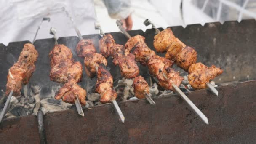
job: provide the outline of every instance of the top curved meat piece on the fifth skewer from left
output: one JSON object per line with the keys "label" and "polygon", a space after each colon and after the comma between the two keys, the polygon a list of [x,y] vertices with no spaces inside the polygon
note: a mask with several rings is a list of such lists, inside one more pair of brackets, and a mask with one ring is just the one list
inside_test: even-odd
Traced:
{"label": "top curved meat piece on the fifth skewer from left", "polygon": [[134,37],[131,37],[126,43],[125,43],[125,48],[127,49],[127,51],[125,50],[125,55],[128,55],[131,51],[131,49],[134,47],[134,45],[136,45],[136,43],[138,42],[143,42],[145,43],[145,37],[141,36],[141,35],[136,35]]}

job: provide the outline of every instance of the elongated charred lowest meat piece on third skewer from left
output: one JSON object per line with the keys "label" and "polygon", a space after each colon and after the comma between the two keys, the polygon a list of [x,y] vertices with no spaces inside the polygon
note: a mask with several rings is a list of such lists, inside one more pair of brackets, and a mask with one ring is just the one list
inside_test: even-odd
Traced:
{"label": "elongated charred lowest meat piece on third skewer from left", "polygon": [[109,70],[100,64],[98,68],[98,79],[95,85],[96,92],[101,96],[101,103],[110,102],[117,97],[117,93],[113,90],[113,77]]}

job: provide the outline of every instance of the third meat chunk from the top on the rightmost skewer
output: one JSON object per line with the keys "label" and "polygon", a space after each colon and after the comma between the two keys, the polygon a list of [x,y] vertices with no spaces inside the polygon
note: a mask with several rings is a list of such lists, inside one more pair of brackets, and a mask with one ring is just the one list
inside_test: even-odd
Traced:
{"label": "third meat chunk from the top on the rightmost skewer", "polygon": [[195,64],[197,61],[197,52],[192,47],[185,47],[180,53],[176,56],[176,64],[184,69],[188,70],[191,64]]}

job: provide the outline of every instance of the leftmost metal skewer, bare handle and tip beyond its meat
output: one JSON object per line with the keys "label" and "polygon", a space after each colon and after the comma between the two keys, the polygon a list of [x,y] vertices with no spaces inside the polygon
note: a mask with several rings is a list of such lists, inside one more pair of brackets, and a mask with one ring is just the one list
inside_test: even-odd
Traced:
{"label": "leftmost metal skewer, bare handle and tip beyond its meat", "polygon": [[[36,37],[37,37],[37,33],[38,33],[39,29],[40,29],[40,26],[41,26],[41,24],[43,23],[43,21],[45,21],[45,20],[50,21],[50,18],[43,18],[43,19],[42,19],[42,21],[40,22],[40,24],[39,24],[38,27],[37,27],[37,31],[36,31],[36,33],[35,33],[35,36],[34,36],[34,39],[33,39],[32,44],[35,43],[35,39],[36,39]],[[28,84],[27,84],[27,85],[24,85],[24,89],[28,90]],[[5,106],[4,106],[4,108],[3,108],[3,111],[1,112],[1,115],[0,115],[0,123],[2,122],[3,117],[5,116],[5,113],[6,113],[7,109],[8,109],[8,106],[9,106],[9,104],[10,104],[12,95],[13,95],[13,90],[11,90],[11,92],[9,93],[9,96],[8,96],[8,98],[7,98],[7,101],[5,102]]]}

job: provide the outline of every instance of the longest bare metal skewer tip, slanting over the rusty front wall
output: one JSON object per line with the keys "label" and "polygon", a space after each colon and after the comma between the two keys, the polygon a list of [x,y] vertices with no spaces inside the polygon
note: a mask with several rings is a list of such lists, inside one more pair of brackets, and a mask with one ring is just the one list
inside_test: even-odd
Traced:
{"label": "longest bare metal skewer tip, slanting over the rusty front wall", "polygon": [[195,104],[193,104],[193,102],[174,83],[172,83],[172,86],[175,92],[178,93],[179,96],[181,96],[181,98],[189,104],[194,112],[208,125],[208,118],[203,114],[203,112],[201,112],[200,109],[198,109],[197,106],[195,106]]}

